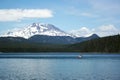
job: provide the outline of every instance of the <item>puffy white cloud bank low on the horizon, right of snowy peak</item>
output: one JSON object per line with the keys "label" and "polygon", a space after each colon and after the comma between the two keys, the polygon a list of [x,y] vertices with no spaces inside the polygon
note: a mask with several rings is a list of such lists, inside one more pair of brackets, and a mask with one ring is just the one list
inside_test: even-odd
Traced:
{"label": "puffy white cloud bank low on the horizon, right of snowy peak", "polygon": [[76,35],[77,37],[88,37],[92,34],[97,34],[100,37],[110,36],[120,34],[120,30],[117,29],[114,25],[102,25],[97,28],[89,29],[87,27],[81,27],[78,30],[70,31],[71,34]]}

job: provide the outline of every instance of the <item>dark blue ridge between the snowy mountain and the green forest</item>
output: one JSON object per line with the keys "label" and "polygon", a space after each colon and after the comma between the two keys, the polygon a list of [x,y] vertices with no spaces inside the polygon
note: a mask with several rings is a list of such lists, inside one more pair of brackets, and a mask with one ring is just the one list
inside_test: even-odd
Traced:
{"label": "dark blue ridge between the snowy mountain and the green forest", "polygon": [[34,35],[28,39],[23,37],[0,37],[2,41],[17,41],[17,42],[32,42],[32,43],[43,43],[43,44],[74,44],[79,43],[95,38],[99,38],[98,36],[94,37],[95,34],[90,37],[79,37],[73,38],[70,36],[47,36],[47,35]]}

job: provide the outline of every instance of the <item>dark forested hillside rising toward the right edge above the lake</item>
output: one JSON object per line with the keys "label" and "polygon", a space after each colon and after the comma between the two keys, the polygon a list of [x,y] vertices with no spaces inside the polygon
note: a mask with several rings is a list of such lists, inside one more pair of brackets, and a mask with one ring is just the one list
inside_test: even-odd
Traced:
{"label": "dark forested hillside rising toward the right edge above the lake", "polygon": [[69,49],[77,52],[117,52],[120,53],[120,35],[93,39],[73,45]]}

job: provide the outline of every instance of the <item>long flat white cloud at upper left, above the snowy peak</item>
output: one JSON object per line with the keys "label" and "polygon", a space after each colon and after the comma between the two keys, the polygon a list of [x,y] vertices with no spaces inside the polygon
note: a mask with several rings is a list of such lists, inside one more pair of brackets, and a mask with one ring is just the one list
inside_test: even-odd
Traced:
{"label": "long flat white cloud at upper left, above the snowy peak", "polygon": [[0,9],[0,21],[19,21],[23,18],[50,18],[49,9]]}

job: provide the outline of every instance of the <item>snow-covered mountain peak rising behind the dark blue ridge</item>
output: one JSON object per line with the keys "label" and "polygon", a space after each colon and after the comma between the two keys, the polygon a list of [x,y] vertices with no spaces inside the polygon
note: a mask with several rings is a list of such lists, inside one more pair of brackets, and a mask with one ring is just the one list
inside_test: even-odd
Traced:
{"label": "snow-covered mountain peak rising behind the dark blue ridge", "polygon": [[30,38],[34,35],[47,35],[47,36],[72,36],[52,24],[33,23],[27,27],[11,30],[1,35],[2,37],[23,37]]}

